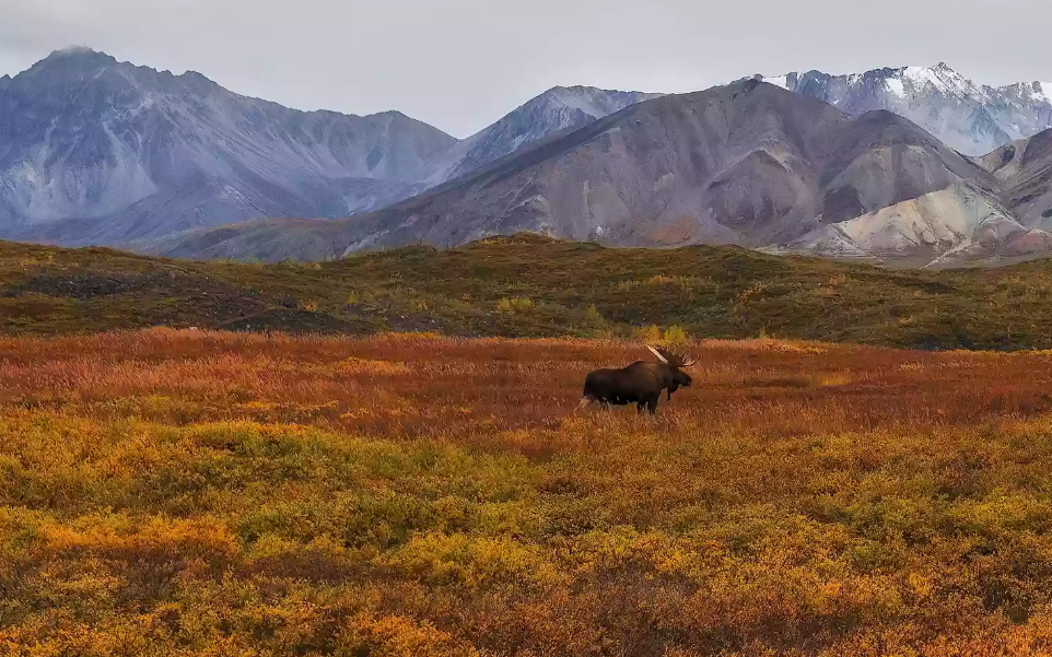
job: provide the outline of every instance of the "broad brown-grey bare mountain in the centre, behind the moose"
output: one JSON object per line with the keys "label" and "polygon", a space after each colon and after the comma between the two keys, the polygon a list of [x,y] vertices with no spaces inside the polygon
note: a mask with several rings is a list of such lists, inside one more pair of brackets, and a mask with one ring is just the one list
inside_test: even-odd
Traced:
{"label": "broad brown-grey bare mountain in the centre, behind the moose", "polygon": [[[378,212],[139,246],[171,256],[327,259],[528,230],[611,245],[761,248],[797,245],[945,190],[963,190],[965,200],[944,204],[1000,208],[1000,186],[991,172],[890,112],[852,116],[749,80],[630,106]],[[931,208],[921,212],[940,221]],[[971,237],[958,227],[900,244],[893,255],[931,261]],[[878,255],[856,247],[849,255]]]}

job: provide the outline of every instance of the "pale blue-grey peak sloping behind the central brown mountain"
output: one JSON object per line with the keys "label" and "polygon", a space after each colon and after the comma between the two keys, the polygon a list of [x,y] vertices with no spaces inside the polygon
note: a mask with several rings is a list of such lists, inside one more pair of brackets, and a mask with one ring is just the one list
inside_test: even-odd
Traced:
{"label": "pale blue-grey peak sloping behind the central brown mountain", "polygon": [[454,146],[433,165],[424,179],[425,186],[440,185],[481,169],[523,146],[583,128],[596,119],[659,95],[593,86],[557,86]]}

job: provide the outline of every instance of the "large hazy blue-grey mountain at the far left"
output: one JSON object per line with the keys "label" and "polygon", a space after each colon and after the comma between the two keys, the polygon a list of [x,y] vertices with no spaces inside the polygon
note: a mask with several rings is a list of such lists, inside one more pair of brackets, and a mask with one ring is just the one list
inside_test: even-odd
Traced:
{"label": "large hazy blue-grey mountain at the far left", "polygon": [[0,235],[113,244],[404,198],[456,140],[398,113],[297,112],[90,49],[0,81]]}

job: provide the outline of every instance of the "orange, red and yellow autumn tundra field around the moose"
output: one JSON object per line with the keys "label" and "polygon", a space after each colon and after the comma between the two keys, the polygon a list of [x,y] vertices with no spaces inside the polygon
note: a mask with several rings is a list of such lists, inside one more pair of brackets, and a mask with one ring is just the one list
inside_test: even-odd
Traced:
{"label": "orange, red and yellow autumn tundra field around the moose", "polygon": [[1052,654],[1052,354],[0,338],[0,655]]}

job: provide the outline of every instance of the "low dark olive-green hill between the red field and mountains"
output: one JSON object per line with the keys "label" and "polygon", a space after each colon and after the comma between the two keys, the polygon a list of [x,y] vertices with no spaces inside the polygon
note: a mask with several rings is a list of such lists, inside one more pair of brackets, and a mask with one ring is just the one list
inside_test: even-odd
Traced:
{"label": "low dark olive-green hill between the red field and mountains", "polygon": [[0,243],[0,330],[150,326],[459,336],[759,335],[1052,348],[1052,261],[890,271],[738,248],[610,249],[537,235],[324,263],[191,262]]}

